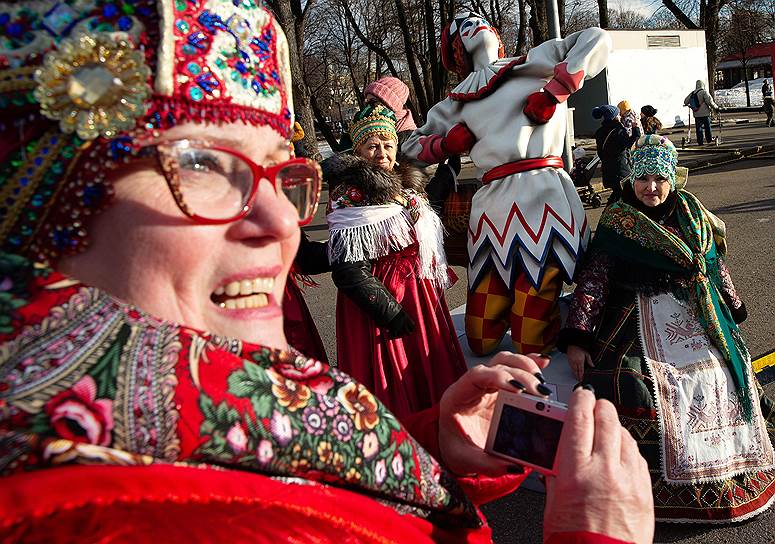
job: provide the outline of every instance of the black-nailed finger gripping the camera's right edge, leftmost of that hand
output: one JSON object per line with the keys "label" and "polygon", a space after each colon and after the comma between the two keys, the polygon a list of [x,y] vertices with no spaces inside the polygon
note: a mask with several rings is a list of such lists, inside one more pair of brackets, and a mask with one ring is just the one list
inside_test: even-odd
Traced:
{"label": "black-nailed finger gripping the camera's right edge, leftmost of that hand", "polygon": [[585,464],[592,454],[595,440],[595,395],[577,389],[570,397],[568,413],[558,446],[558,470],[574,470]]}

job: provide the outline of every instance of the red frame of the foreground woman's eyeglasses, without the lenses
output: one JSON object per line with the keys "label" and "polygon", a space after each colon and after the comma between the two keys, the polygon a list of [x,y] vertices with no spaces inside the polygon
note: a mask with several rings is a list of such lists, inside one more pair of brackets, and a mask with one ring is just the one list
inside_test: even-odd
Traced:
{"label": "red frame of the foreground woman's eyeglasses, without the lenses", "polygon": [[[173,146],[181,143],[193,144],[191,147],[201,147],[203,149],[212,149],[214,151],[221,151],[223,153],[228,153],[229,155],[233,155],[237,157],[246,165],[248,165],[251,173],[253,174],[253,187],[250,190],[250,194],[248,195],[247,201],[243,206],[242,211],[226,219],[210,219],[209,217],[202,217],[201,215],[197,215],[189,209],[188,205],[186,205],[185,199],[183,198],[183,194],[180,191],[180,180],[176,175],[176,169],[173,168],[171,164],[166,163],[166,161],[171,162],[172,157],[170,156],[170,154],[163,152],[163,149],[165,146]],[[229,147],[220,146],[220,145],[212,145],[206,142],[197,142],[195,140],[174,140],[171,142],[161,142],[161,143],[153,144],[146,147],[151,147],[155,149],[156,158],[159,162],[159,167],[161,168],[161,171],[164,174],[164,179],[166,180],[167,186],[169,187],[170,192],[172,193],[172,197],[175,199],[175,204],[177,204],[180,211],[183,212],[183,214],[185,214],[186,217],[192,219],[195,223],[198,223],[201,225],[225,225],[226,223],[233,223],[235,221],[239,221],[240,219],[247,216],[250,213],[250,211],[253,209],[253,201],[256,198],[256,193],[258,192],[258,184],[261,183],[261,180],[266,179],[272,186],[272,189],[274,189],[275,194],[278,194],[277,178],[276,178],[277,173],[283,168],[286,168],[288,166],[292,166],[295,164],[306,164],[307,166],[311,166],[312,169],[317,174],[314,180],[314,183],[317,185],[317,187],[313,188],[313,190],[315,191],[315,202],[312,206],[312,210],[310,211],[309,216],[305,219],[298,220],[299,226],[303,227],[305,225],[310,224],[312,222],[312,219],[315,217],[315,212],[317,212],[318,204],[320,203],[320,191],[323,186],[323,183],[322,183],[323,172],[320,169],[320,165],[316,161],[313,161],[312,159],[297,157],[294,159],[289,159],[287,161],[281,162],[279,164],[264,167],[264,166],[261,166],[260,164],[256,164],[247,155],[240,153],[236,149],[231,149]],[[280,190],[282,191],[282,189]]]}

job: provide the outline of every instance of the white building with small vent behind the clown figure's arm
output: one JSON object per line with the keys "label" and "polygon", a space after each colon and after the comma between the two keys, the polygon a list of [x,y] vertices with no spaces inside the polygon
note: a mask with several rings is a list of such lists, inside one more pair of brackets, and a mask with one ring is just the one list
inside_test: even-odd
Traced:
{"label": "white building with small vent behind the clown figure's arm", "polygon": [[651,104],[666,127],[684,126],[684,98],[698,79],[708,82],[703,30],[610,30],[613,50],[608,67],[573,94],[576,135],[592,135],[600,121],[592,108],[627,100],[640,113]]}

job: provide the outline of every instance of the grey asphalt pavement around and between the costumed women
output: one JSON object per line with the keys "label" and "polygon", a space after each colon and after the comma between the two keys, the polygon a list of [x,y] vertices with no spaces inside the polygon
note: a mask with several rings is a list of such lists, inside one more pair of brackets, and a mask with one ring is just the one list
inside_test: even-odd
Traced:
{"label": "grey asphalt pavement around and between the costumed women", "polygon": [[[751,118],[736,124],[733,118]],[[753,356],[775,348],[775,128],[763,126],[763,117],[734,114],[723,127],[724,144],[718,149],[681,151],[679,164],[690,167],[687,189],[726,222],[727,263],[736,287],[746,302],[749,317],[742,330]],[[676,132],[674,134],[680,134]],[[680,146],[680,136],[676,138]],[[726,146],[726,147],[725,147]],[[715,146],[714,146],[715,147]],[[769,152],[768,152],[769,150]],[[739,153],[736,154],[736,153]],[[752,156],[735,160],[743,154]],[[733,161],[733,162],[730,162]],[[707,163],[723,163],[707,167]],[[315,240],[325,240],[324,193],[321,209],[305,230]],[[588,210],[594,228],[602,210]],[[465,269],[455,267],[461,278],[446,293],[450,308],[465,302]],[[329,275],[315,278],[319,286],[308,288],[307,303],[331,360],[336,360],[336,288]],[[767,387],[775,395],[775,384]],[[622,475],[622,477],[627,477]],[[541,493],[520,489],[485,505],[496,543],[540,543],[543,523]],[[752,520],[727,526],[659,524],[656,542],[670,543],[775,543],[775,508]]]}

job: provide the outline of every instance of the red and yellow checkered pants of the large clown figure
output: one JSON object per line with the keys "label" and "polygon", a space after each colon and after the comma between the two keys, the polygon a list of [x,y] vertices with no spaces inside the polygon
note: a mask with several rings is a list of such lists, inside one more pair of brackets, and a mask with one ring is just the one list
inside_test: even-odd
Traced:
{"label": "red and yellow checkered pants of the large clown figure", "polygon": [[466,336],[471,351],[477,355],[494,351],[509,327],[517,353],[551,351],[560,330],[561,289],[562,275],[554,263],[546,265],[538,289],[524,271],[511,289],[497,272],[487,272],[468,292]]}

